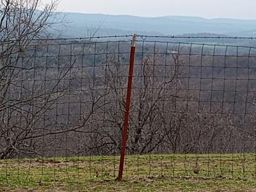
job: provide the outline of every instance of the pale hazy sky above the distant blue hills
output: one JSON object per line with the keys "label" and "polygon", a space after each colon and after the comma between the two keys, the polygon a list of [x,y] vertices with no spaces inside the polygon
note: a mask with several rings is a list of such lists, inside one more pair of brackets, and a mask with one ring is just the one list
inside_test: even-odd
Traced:
{"label": "pale hazy sky above the distant blue hills", "polygon": [[[42,0],[50,2],[51,0]],[[60,0],[59,11],[156,17],[256,19],[256,0]]]}

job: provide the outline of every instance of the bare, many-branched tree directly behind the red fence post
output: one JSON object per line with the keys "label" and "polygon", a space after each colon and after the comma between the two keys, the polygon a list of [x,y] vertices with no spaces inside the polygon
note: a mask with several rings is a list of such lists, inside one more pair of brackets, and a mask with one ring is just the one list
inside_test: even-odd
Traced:
{"label": "bare, many-branched tree directly behind the red fence post", "polygon": [[[167,114],[166,109],[170,106],[165,106],[165,104],[167,101],[171,105],[176,102],[177,96],[172,91],[175,90],[176,83],[179,83],[178,68],[182,61],[179,61],[178,55],[170,54],[167,66],[164,67],[161,65],[163,60],[165,58],[161,55],[143,56],[142,64],[134,69],[128,145],[128,152],[131,154],[159,152],[160,146],[168,136],[175,134],[178,137],[180,134],[176,130],[178,129],[178,127],[176,128],[177,124],[169,122],[169,119],[173,116],[182,121],[181,119],[185,116],[178,116],[171,112]],[[109,55],[107,65],[102,68],[102,76],[105,76],[104,79],[107,79],[107,82],[102,82],[102,84],[107,86],[107,99],[114,102],[109,102],[102,108],[104,110],[102,114],[105,114],[105,124],[97,129],[104,131],[106,127],[111,127],[111,131],[104,131],[104,134],[95,140],[97,143],[95,148],[98,150],[104,148],[103,151],[106,154],[116,152],[120,148],[125,111],[126,73],[125,61],[115,54]],[[156,74],[165,74],[166,77],[158,78]]]}

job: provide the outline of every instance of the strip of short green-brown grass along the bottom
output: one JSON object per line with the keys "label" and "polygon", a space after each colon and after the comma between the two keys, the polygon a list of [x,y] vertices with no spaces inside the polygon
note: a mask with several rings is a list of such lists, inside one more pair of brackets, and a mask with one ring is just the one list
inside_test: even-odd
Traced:
{"label": "strip of short green-brown grass along the bottom", "polygon": [[0,161],[0,191],[256,191],[255,154],[118,156]]}

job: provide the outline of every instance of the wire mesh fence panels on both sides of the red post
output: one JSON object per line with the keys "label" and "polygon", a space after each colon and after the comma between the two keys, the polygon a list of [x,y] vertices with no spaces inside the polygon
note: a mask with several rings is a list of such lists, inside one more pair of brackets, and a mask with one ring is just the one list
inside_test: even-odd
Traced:
{"label": "wire mesh fence panels on both sides of the red post", "polygon": [[[255,179],[254,39],[196,38],[138,37],[124,179]],[[130,47],[1,42],[1,183],[116,179]]]}

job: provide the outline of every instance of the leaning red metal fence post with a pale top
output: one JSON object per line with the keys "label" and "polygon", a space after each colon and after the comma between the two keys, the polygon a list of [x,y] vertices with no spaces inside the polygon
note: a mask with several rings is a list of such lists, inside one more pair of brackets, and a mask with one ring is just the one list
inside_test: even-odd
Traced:
{"label": "leaning red metal fence post with a pale top", "polygon": [[129,64],[129,77],[128,77],[128,85],[127,85],[127,94],[126,94],[126,104],[125,104],[125,118],[123,122],[123,138],[122,138],[122,146],[121,146],[121,154],[120,154],[120,163],[119,163],[119,172],[117,180],[122,180],[123,177],[123,164],[125,159],[125,149],[128,138],[128,125],[129,125],[129,111],[130,111],[130,103],[131,103],[131,93],[133,88],[133,68],[134,68],[134,58],[135,58],[135,45],[136,45],[137,35],[133,35],[133,41],[131,45],[130,52],[130,64]]}

